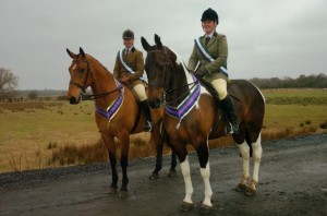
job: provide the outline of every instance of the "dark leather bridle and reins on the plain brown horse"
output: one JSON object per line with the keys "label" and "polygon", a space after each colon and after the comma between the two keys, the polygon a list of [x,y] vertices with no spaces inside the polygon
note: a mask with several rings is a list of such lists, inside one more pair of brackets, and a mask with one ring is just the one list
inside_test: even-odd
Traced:
{"label": "dark leather bridle and reins on the plain brown horse", "polygon": [[[76,82],[74,82],[72,80],[70,81],[70,84],[71,85],[75,85],[75,86],[77,86],[78,88],[82,89],[81,100],[94,100],[94,99],[101,98],[101,97],[105,97],[107,95],[110,95],[110,94],[112,94],[112,93],[114,93],[117,91],[119,91],[119,92],[122,91],[123,85],[120,82],[118,82],[119,83],[118,87],[116,87],[112,91],[109,91],[109,92],[106,92],[106,93],[100,93],[100,94],[87,95],[86,94],[86,88],[87,88],[86,82],[87,82],[88,76],[92,75],[90,67],[89,67],[89,61],[88,60],[80,60],[80,61],[87,63],[86,75],[85,75],[83,85],[81,85],[81,84],[78,84],[78,83],[76,83]],[[77,62],[77,60],[73,60],[73,62]]]}

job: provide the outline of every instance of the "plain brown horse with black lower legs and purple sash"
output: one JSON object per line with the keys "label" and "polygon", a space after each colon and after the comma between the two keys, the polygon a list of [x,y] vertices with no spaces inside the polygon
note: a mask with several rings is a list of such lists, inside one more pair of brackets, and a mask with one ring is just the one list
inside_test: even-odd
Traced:
{"label": "plain brown horse with black lower legs and purple sash", "polygon": [[[110,192],[118,192],[118,172],[114,137],[120,141],[122,168],[122,185],[120,194],[128,192],[128,157],[130,147],[130,134],[143,132],[145,116],[138,106],[138,100],[133,91],[120,83],[113,75],[94,57],[86,55],[82,48],[80,53],[75,55],[66,49],[69,56],[73,59],[70,71],[70,84],[66,97],[71,104],[78,104],[82,99],[95,100],[95,119],[99,132],[109,153],[111,165],[112,182]],[[85,95],[87,87],[92,88],[94,95]],[[156,168],[150,179],[158,178],[158,172],[162,166],[162,137],[160,132],[160,122],[162,109],[152,110],[154,129],[152,139],[156,144],[157,161]],[[177,165],[175,156],[172,154],[169,175],[174,173]]]}

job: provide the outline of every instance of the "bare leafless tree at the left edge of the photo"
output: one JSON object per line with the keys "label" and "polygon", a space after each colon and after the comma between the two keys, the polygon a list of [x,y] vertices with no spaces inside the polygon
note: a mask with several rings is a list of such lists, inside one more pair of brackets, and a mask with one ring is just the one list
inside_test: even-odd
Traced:
{"label": "bare leafless tree at the left edge of the photo", "polygon": [[19,77],[9,69],[0,68],[0,97],[4,97],[19,86]]}

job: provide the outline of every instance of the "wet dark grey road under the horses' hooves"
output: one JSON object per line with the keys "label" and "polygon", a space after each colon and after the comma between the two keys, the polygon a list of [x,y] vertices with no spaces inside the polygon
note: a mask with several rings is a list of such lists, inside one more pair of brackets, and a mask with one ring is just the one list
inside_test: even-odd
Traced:
{"label": "wet dark grey road under the horses' hooves", "polygon": [[[327,134],[263,143],[257,194],[235,192],[242,171],[238,148],[210,152],[214,208],[209,215],[327,215]],[[154,159],[130,163],[129,195],[109,194],[108,164],[0,175],[0,215],[198,215],[203,192],[197,158],[191,155],[194,208],[180,212],[180,169],[148,180]],[[119,169],[120,170],[120,169]],[[120,173],[121,175],[121,173]]]}

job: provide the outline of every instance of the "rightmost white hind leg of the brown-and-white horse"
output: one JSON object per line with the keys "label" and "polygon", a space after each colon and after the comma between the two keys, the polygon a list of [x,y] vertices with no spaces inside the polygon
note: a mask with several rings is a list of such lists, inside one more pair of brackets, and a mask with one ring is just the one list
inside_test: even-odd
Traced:
{"label": "rightmost white hind leg of the brown-and-white horse", "polygon": [[263,155],[263,148],[262,148],[262,134],[259,134],[258,139],[252,144],[253,148],[253,176],[252,176],[252,184],[258,182],[258,171]]}

